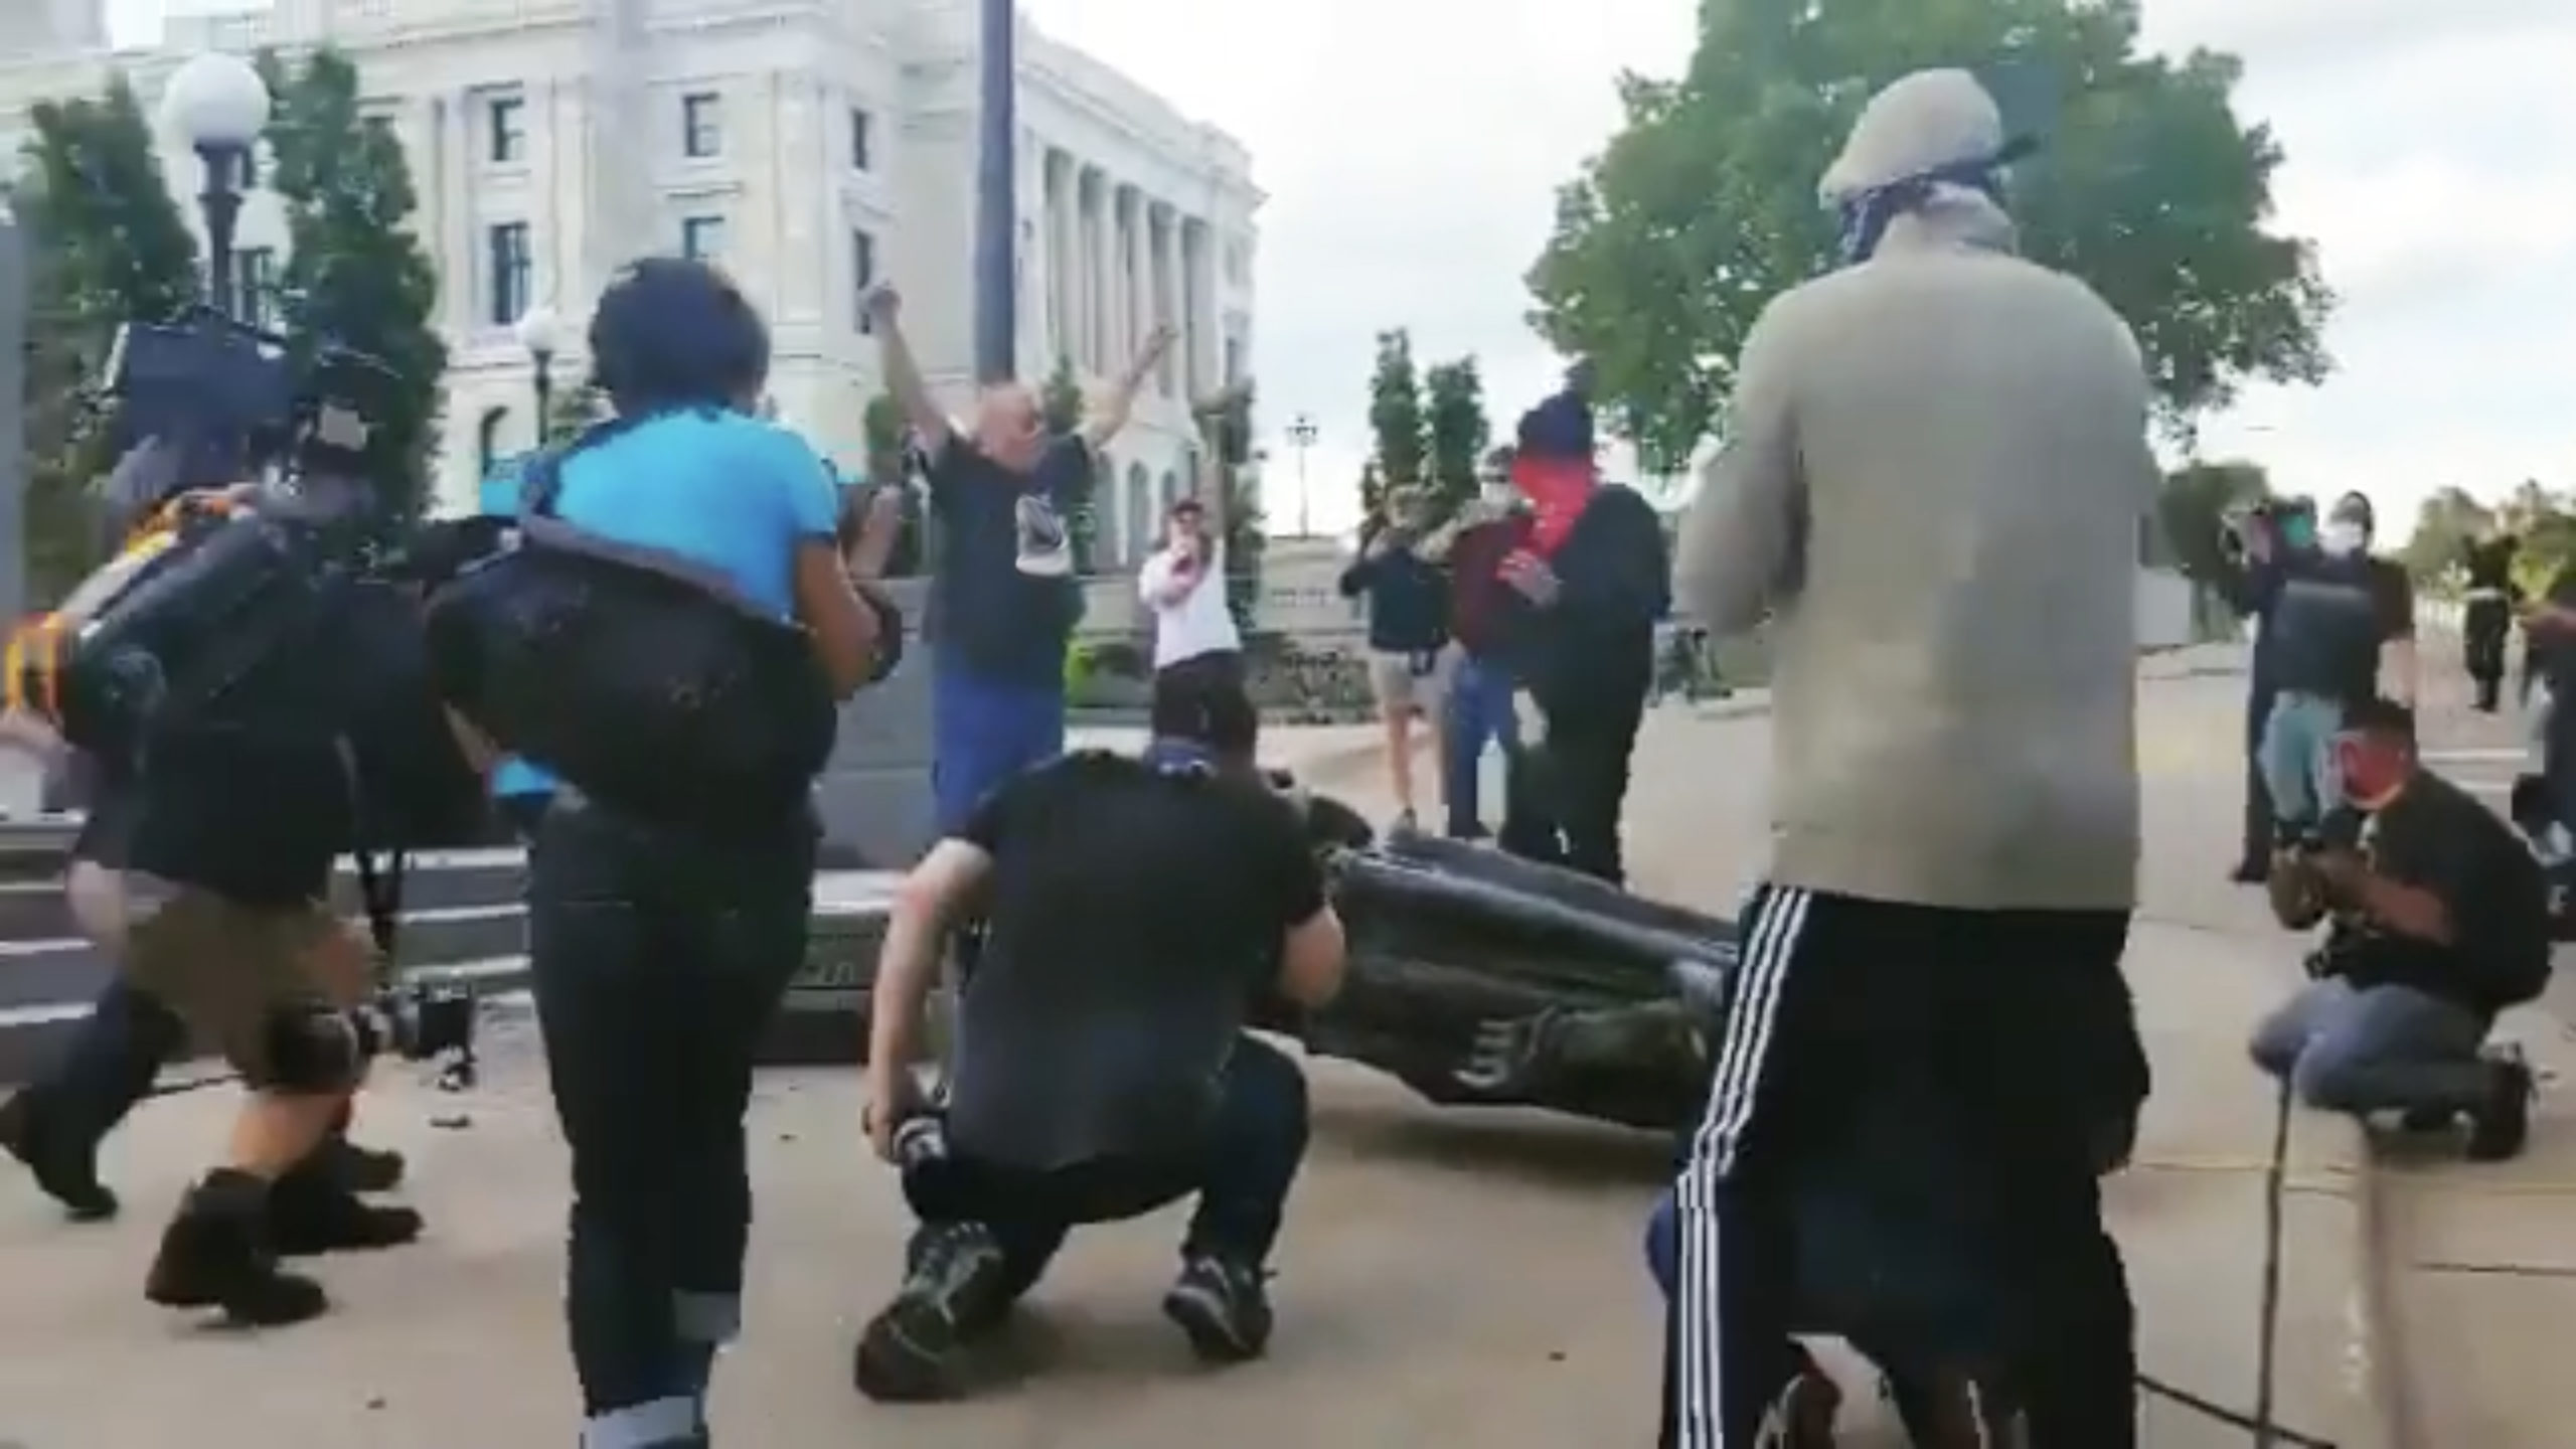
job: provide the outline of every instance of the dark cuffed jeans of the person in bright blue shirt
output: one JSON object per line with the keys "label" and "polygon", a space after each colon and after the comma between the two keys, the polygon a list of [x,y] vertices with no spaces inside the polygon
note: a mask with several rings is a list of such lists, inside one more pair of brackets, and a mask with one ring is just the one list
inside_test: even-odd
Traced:
{"label": "dark cuffed jeans of the person in bright blue shirt", "polygon": [[572,1147],[572,1359],[592,1423],[636,1444],[696,1431],[739,1328],[752,1047],[804,962],[811,887],[804,820],[711,841],[567,794],[536,828],[528,967]]}

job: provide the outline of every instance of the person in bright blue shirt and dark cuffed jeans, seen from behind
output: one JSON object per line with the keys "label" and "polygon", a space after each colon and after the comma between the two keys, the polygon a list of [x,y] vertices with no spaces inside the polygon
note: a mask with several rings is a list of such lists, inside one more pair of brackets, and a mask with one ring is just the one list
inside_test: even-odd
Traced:
{"label": "person in bright blue shirt and dark cuffed jeans, seen from behind", "polygon": [[[855,694],[896,647],[853,578],[884,567],[899,498],[884,490],[840,549],[829,469],[750,413],[770,366],[752,304],[711,266],[639,260],[600,294],[590,356],[616,418],[531,464],[554,469],[554,516],[721,575],[742,611],[799,621],[832,694]],[[649,642],[608,645],[649,668]],[[562,784],[528,851],[528,964],[572,1147],[564,1310],[585,1444],[706,1446],[716,1351],[742,1323],[752,1049],[804,964],[819,825],[804,792],[716,822],[598,799],[549,763]]]}

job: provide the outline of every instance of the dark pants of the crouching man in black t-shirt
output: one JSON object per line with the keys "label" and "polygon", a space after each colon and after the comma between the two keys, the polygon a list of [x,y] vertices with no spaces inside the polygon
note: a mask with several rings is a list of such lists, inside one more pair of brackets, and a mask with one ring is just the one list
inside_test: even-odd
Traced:
{"label": "dark pants of the crouching man in black t-shirt", "polygon": [[1182,1256],[1262,1266],[1303,1160],[1306,1075],[1278,1047],[1244,1036],[1200,1152],[1113,1158],[1048,1173],[956,1152],[904,1168],[904,1201],[925,1232],[958,1222],[992,1230],[1010,1266],[1010,1297],[1018,1297],[1036,1287],[1074,1227],[1141,1217],[1190,1194],[1198,1194],[1198,1212]]}

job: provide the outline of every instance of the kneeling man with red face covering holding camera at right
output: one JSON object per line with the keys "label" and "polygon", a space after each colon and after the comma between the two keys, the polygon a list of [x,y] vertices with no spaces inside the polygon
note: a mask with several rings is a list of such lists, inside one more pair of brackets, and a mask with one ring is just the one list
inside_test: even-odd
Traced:
{"label": "kneeling man with red face covering holding camera at right", "polygon": [[2470,1122],[2468,1155],[2530,1132],[2532,1070],[2486,1052],[2496,1013],[2550,972],[2548,887],[2514,830],[2414,753],[2414,714],[2362,701],[2336,737],[2360,848],[2329,846],[2275,882],[2282,926],[2331,918],[2316,977],[2254,1031],[2254,1062],[2326,1111]]}

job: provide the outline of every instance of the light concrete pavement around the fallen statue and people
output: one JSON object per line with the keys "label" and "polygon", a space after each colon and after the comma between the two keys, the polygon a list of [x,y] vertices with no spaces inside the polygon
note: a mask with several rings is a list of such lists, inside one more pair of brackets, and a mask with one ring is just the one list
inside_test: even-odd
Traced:
{"label": "light concrete pavement around the fallen statue and people", "polygon": [[[2298,946],[2254,892],[2221,879],[2241,781],[2236,688],[2159,670],[2146,691],[2151,846],[2130,972],[2159,1088],[2110,1204],[2146,1369],[2244,1408],[2272,1106],[2241,1042],[2295,982]],[[1365,779],[1376,771],[1358,766],[1303,771],[1383,812]],[[1641,890],[1728,910],[1762,861],[1765,773],[1759,717],[1656,712],[1631,797]],[[106,1168],[131,1204],[121,1225],[64,1227],[23,1181],[0,1178],[0,1441],[569,1444],[562,1150],[526,1026],[502,1036],[471,1096],[386,1073],[366,1137],[412,1152],[433,1235],[325,1263],[343,1312],[319,1325],[204,1333],[137,1294],[160,1217],[222,1132],[222,1091],[157,1104],[111,1142]],[[750,1330],[724,1366],[719,1423],[775,1449],[1157,1449],[1211,1434],[1242,1449],[1651,1441],[1659,1320],[1636,1240],[1664,1145],[1535,1114],[1437,1111],[1332,1062],[1311,1073],[1316,1145],[1280,1250],[1270,1361],[1224,1374],[1188,1364],[1154,1312],[1177,1238],[1175,1214],[1157,1214],[1079,1235],[1010,1346],[1012,1382],[935,1410],[848,1390],[850,1336],[894,1287],[904,1232],[894,1183],[858,1145],[853,1073],[765,1078]],[[2349,1124],[2300,1116],[2290,1178],[2280,1421],[2380,1449]],[[1868,1395],[1847,1428],[1852,1449],[1896,1444]],[[2161,1403],[2146,1408],[2146,1436],[2156,1449],[2246,1441]]]}

